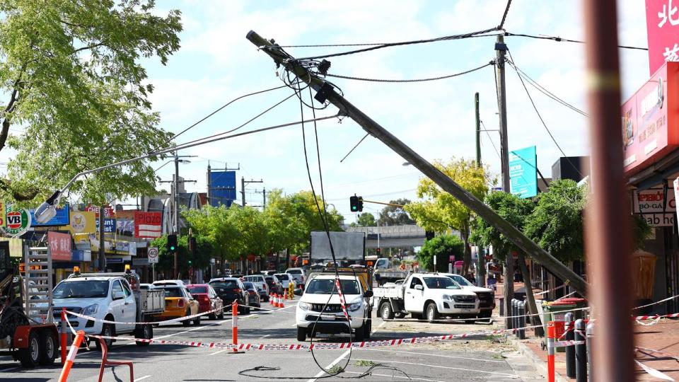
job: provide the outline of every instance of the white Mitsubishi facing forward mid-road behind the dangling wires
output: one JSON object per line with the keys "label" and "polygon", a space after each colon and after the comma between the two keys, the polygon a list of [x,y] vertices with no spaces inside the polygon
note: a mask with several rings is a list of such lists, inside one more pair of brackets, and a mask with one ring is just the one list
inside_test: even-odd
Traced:
{"label": "white Mitsubishi facing forward mid-road behind the dangling wires", "polygon": [[361,283],[351,275],[340,275],[340,284],[344,292],[349,323],[344,317],[340,296],[335,290],[335,275],[318,274],[309,280],[304,294],[297,303],[295,319],[298,341],[306,340],[306,337],[315,332],[347,333],[350,330],[353,330],[356,342],[370,337],[373,292],[364,291]]}

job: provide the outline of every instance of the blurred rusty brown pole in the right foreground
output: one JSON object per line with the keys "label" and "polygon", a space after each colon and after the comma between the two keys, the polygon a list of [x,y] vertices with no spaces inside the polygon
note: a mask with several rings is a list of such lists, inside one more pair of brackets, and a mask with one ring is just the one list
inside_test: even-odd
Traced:
{"label": "blurred rusty brown pole in the right foreground", "polygon": [[585,210],[589,300],[595,308],[596,381],[633,381],[632,242],[620,134],[617,2],[582,1],[591,142],[591,201]]}

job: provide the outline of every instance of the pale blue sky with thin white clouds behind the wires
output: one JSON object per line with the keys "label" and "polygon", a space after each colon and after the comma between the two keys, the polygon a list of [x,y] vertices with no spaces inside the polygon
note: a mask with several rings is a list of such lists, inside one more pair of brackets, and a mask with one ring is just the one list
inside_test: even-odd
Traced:
{"label": "pale blue sky with thin white clouds behind the wires", "polygon": [[[620,44],[646,47],[643,0],[618,1]],[[282,85],[267,54],[245,39],[249,30],[280,45],[397,42],[468,33],[499,24],[505,0],[460,1],[220,1],[180,0],[156,3],[156,13],[182,12],[182,47],[163,66],[145,59],[148,81],[156,90],[153,109],[161,114],[161,127],[180,132],[229,100],[245,93]],[[511,33],[584,39],[581,1],[516,0],[504,28]],[[560,98],[586,110],[584,45],[569,42],[505,37],[516,65]],[[420,79],[466,71],[494,59],[495,37],[434,42],[393,47],[374,52],[332,57],[330,74],[378,79]],[[342,52],[353,47],[286,48],[294,57]],[[623,99],[646,81],[648,56],[643,50],[620,50]],[[424,83],[371,83],[332,79],[344,96],[373,120],[395,134],[428,160],[475,158],[474,93],[480,93],[480,116],[489,130],[497,130],[497,100],[492,66],[465,76]],[[518,76],[506,70],[509,149],[537,146],[538,167],[551,176],[552,163],[561,156],[530,105]],[[547,127],[568,156],[588,155],[587,118],[528,87]],[[237,127],[291,95],[289,88],[238,100],[233,105],[182,134],[181,144]],[[308,97],[308,95],[307,95]],[[621,100],[622,102],[622,100]],[[318,116],[335,115],[330,106]],[[304,117],[311,117],[305,108]],[[293,97],[243,131],[300,119],[300,104]],[[307,127],[307,143],[315,188],[320,193],[315,161],[313,126]],[[368,137],[349,157],[340,160],[364,136],[355,122],[336,119],[318,122],[318,141],[327,202],[344,214],[347,223],[349,196],[388,202],[416,199],[421,177],[412,166],[373,137]],[[499,134],[482,134],[482,162],[499,173]],[[191,163],[180,165],[189,191],[205,192],[208,163],[213,169],[238,167],[240,178],[263,180],[246,187],[248,204],[261,204],[262,186],[285,193],[308,190],[301,127],[250,134],[180,151]],[[160,166],[162,163],[156,163]],[[158,170],[171,179],[173,166]],[[166,184],[161,185],[166,187]],[[167,187],[166,187],[167,188]],[[376,204],[365,211],[377,212]]]}

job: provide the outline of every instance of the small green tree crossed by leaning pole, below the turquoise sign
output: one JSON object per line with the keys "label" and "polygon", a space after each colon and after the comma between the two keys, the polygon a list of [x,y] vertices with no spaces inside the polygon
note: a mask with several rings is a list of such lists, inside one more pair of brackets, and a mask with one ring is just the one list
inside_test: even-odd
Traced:
{"label": "small green tree crossed by leaning pole, below the turquoise sign", "polygon": [[[519,230],[523,230],[523,225],[528,216],[533,212],[535,204],[530,199],[521,199],[508,192],[491,192],[486,196],[485,204],[492,208],[499,216]],[[519,249],[513,245],[494,226],[488,224],[480,216],[477,216],[472,229],[470,240],[484,246],[493,246],[494,257],[504,261],[506,255]]]}

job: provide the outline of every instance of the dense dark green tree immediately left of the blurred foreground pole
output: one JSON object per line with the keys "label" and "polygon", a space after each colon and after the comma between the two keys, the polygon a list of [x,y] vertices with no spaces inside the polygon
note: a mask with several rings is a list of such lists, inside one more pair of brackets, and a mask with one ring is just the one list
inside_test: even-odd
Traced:
{"label": "dense dark green tree immediately left of the blurred foreground pole", "polygon": [[581,260],[585,204],[584,186],[579,187],[569,179],[555,180],[547,192],[538,195],[535,210],[524,228],[526,236],[564,263]]}

